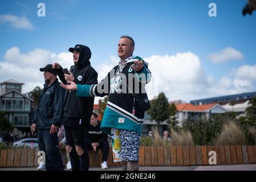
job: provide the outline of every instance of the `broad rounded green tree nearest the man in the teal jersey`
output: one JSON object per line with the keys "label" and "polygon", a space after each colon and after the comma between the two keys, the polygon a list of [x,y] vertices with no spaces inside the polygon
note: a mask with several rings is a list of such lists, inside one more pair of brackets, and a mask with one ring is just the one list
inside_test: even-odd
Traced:
{"label": "broad rounded green tree nearest the man in the teal jersey", "polygon": [[159,96],[151,101],[151,109],[148,110],[148,114],[151,115],[152,119],[157,122],[157,128],[159,129],[160,122],[169,119],[170,109],[168,99],[164,93],[160,93]]}

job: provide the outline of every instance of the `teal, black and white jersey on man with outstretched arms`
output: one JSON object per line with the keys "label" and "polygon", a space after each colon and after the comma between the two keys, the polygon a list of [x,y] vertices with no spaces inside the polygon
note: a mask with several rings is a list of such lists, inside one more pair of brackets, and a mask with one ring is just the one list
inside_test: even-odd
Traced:
{"label": "teal, black and white jersey on man with outstretched arms", "polygon": [[151,72],[145,61],[143,62],[143,69],[139,73],[135,72],[130,68],[135,60],[143,61],[139,56],[127,59],[124,65],[117,65],[113,68],[98,85],[77,85],[76,95],[78,97],[104,97],[109,95],[100,127],[106,134],[111,133],[111,128],[127,129],[141,133],[144,111],[136,104],[133,94],[138,93],[139,97],[143,95],[147,97],[145,84],[150,81]]}

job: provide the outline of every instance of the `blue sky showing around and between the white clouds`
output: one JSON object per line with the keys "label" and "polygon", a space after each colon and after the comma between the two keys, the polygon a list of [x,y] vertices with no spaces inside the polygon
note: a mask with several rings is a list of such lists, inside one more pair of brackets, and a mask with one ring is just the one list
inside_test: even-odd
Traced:
{"label": "blue sky showing around and between the white clouds", "polygon": [[[46,5],[46,17],[37,16],[37,5],[40,2]],[[217,17],[208,15],[210,10],[208,5],[211,2],[217,5]],[[56,54],[68,52],[68,48],[75,46],[76,43],[85,44],[91,48],[92,65],[99,68],[96,71],[102,71],[100,65],[111,62],[110,55],[114,55],[117,59],[116,48],[119,37],[130,35],[135,39],[135,55],[152,58],[152,55],[175,56],[177,52],[192,52],[200,59],[199,70],[204,72],[199,77],[205,75],[206,78],[210,77],[212,80],[208,84],[214,87],[220,86],[223,77],[229,77],[230,81],[234,83],[234,79],[239,75],[237,73],[239,68],[249,65],[249,69],[254,70],[255,64],[256,12],[252,16],[242,16],[242,8],[246,2],[246,0],[3,0],[0,2],[0,15],[26,17],[33,28],[15,28],[10,23],[0,20],[0,72],[5,72],[5,70],[1,70],[1,62],[10,61],[10,59],[6,59],[6,52],[11,47],[18,47],[21,55],[29,56],[29,52],[36,48]],[[209,59],[209,54],[220,53],[221,50],[228,47],[241,53],[242,58],[229,58],[223,63],[214,63]],[[165,63],[162,64],[159,66],[165,67]],[[193,67],[188,69],[193,69]],[[172,68],[169,70],[172,71]],[[168,68],[165,67],[163,71],[168,71]],[[107,74],[107,70],[105,74]],[[5,78],[0,78],[0,81]],[[245,77],[242,79],[246,82]],[[168,84],[168,80],[166,81],[165,84]],[[200,78],[196,80],[194,86],[201,81]],[[180,98],[189,101],[201,98],[202,95],[208,97],[246,92],[246,90],[254,91],[256,86],[254,76],[250,77],[249,82],[249,87],[242,84],[239,85],[239,88],[235,88],[233,85],[232,88],[220,93],[210,91],[202,94],[198,91],[190,96],[179,95],[178,90],[176,94],[173,94],[175,91],[171,90],[174,88],[165,90],[161,89],[162,85],[159,88],[160,91],[167,93],[169,100]],[[188,94],[192,93],[192,90],[187,88],[187,92]]]}

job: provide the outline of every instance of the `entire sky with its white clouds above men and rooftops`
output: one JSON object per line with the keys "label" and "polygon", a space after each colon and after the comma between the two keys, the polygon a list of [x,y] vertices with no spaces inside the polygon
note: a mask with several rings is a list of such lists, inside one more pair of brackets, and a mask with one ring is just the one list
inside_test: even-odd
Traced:
{"label": "entire sky with its white clouds above men and rooftops", "polygon": [[[38,3],[46,16],[38,16]],[[209,3],[217,5],[210,17]],[[101,80],[119,61],[121,35],[153,74],[149,98],[196,100],[256,91],[256,12],[242,16],[240,1],[10,1],[0,2],[0,82],[43,85],[40,67],[58,61],[70,68],[69,47],[91,48]]]}

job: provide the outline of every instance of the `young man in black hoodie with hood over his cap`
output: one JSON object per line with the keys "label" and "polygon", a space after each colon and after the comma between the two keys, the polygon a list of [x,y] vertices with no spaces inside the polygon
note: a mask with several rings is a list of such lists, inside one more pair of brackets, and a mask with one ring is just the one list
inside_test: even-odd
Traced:
{"label": "young man in black hoodie with hood over his cap", "polygon": [[[68,49],[73,53],[75,65],[69,74],[64,74],[59,63],[54,63],[63,84],[74,81],[76,84],[97,84],[97,72],[91,67],[91,50],[87,46],[77,44]],[[94,97],[76,97],[76,91],[67,91],[63,105],[63,125],[66,135],[66,150],[70,152],[73,171],[88,171],[90,159],[87,151],[87,129],[90,123]]]}

